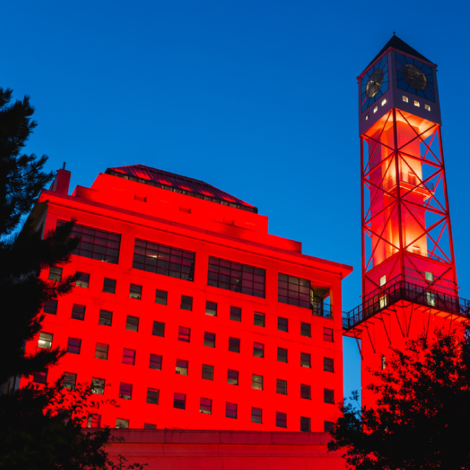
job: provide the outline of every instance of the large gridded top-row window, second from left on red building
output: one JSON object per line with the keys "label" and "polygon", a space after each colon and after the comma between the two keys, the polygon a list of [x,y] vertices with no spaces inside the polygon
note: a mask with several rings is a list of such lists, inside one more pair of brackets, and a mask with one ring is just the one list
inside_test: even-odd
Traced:
{"label": "large gridded top-row window, second from left on red building", "polygon": [[191,251],[136,238],[132,267],[194,281],[194,256]]}

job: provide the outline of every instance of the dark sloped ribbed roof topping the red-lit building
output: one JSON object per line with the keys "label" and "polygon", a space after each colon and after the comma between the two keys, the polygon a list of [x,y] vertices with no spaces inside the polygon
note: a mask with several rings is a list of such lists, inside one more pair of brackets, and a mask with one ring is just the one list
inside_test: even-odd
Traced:
{"label": "dark sloped ribbed roof topping the red-lit building", "polygon": [[115,166],[106,170],[107,174],[119,176],[127,180],[141,182],[145,185],[168,189],[169,191],[187,194],[195,198],[205,199],[213,203],[236,207],[237,209],[247,210],[258,213],[258,209],[249,203],[242,201],[235,196],[217,189],[201,180],[188,178],[187,176],[177,175],[169,171],[158,170],[146,165]]}

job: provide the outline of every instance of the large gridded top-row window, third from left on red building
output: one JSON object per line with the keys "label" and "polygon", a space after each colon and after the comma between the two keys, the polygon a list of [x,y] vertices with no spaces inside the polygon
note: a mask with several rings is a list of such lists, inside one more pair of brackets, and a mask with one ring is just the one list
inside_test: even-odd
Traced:
{"label": "large gridded top-row window, third from left on red building", "polygon": [[207,285],[265,297],[265,270],[209,256]]}

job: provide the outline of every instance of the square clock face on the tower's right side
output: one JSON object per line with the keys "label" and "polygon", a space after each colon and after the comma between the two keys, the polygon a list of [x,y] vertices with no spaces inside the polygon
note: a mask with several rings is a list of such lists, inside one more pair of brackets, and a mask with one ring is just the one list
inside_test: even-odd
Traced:
{"label": "square clock face on the tower's right side", "polygon": [[434,77],[430,65],[398,53],[395,54],[395,60],[398,88],[426,100],[436,101]]}

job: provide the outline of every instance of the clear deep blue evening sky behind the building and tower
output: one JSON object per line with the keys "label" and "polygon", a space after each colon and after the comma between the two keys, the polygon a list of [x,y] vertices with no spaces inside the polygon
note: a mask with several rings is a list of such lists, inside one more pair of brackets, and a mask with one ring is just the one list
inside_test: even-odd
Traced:
{"label": "clear deep blue evening sky behind the building and tower", "polygon": [[[146,164],[209,182],[303,251],[354,267],[361,293],[357,80],[393,31],[439,65],[457,276],[470,298],[469,3],[134,0],[1,6],[0,86],[31,95],[26,149],[72,187]],[[359,389],[345,340],[345,394]]]}

